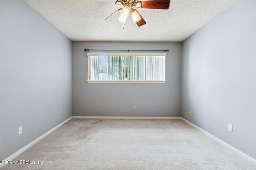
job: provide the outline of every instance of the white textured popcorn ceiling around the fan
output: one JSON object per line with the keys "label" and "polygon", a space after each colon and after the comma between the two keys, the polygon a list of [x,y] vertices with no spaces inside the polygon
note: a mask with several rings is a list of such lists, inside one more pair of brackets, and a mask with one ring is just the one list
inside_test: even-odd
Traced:
{"label": "white textured popcorn ceiling around the fan", "polygon": [[131,16],[124,29],[103,21],[122,6],[115,0],[24,0],[73,41],[183,41],[238,0],[171,0],[168,10],[137,9],[147,22]]}

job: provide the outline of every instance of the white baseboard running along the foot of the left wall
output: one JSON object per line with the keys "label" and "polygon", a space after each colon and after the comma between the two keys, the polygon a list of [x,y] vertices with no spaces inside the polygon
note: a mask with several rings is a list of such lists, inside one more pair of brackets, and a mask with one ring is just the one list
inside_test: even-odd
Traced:
{"label": "white baseboard running along the foot of the left wall", "polygon": [[[24,152],[25,150],[27,150],[28,148],[32,147],[33,145],[35,145],[38,141],[40,141],[41,139],[43,139],[44,137],[46,137],[47,135],[49,135],[50,133],[52,133],[52,131],[58,129],[61,125],[63,125],[64,123],[66,123],[67,121],[69,121],[70,119],[72,119],[72,117],[66,119],[65,121],[63,121],[62,123],[58,124],[57,126],[55,126],[54,128],[52,128],[50,131],[44,133],[44,135],[38,137],[37,139],[35,139],[34,141],[30,142],[28,145],[26,145],[25,147],[23,147],[22,149],[18,150],[17,152],[15,152],[14,154],[12,154],[11,156],[9,156],[8,158],[6,158],[5,160],[12,160],[14,159],[16,156],[18,156],[19,154],[21,154],[22,152]],[[4,164],[0,164],[0,168],[4,166]]]}

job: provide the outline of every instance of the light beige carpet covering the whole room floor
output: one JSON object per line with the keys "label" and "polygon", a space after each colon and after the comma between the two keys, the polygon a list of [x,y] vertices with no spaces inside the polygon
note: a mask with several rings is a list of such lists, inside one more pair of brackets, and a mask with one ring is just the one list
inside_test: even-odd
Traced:
{"label": "light beige carpet covering the whole room floor", "polygon": [[1,170],[256,170],[179,119],[71,119]]}

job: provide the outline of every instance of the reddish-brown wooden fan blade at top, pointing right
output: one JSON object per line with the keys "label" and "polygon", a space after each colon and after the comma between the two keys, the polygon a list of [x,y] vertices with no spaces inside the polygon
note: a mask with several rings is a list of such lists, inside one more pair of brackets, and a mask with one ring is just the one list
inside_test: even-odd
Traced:
{"label": "reddish-brown wooden fan blade at top, pointing right", "polygon": [[141,1],[141,8],[168,10],[170,0],[146,0]]}

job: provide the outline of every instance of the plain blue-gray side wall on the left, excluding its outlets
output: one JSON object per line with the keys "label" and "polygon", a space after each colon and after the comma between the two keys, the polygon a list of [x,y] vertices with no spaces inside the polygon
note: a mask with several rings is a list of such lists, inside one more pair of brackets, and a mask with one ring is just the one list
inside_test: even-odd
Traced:
{"label": "plain blue-gray side wall on the left, excluding its outlets", "polygon": [[0,160],[71,116],[71,47],[25,2],[1,0]]}

